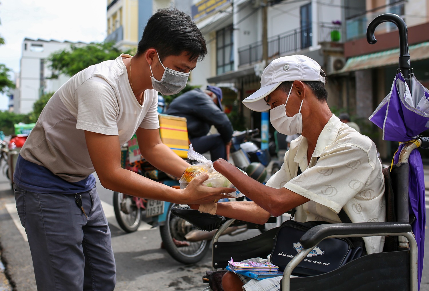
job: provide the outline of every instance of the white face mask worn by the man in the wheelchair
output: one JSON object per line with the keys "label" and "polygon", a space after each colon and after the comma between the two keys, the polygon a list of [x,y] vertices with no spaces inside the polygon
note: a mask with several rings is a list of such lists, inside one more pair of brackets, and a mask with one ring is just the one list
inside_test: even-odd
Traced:
{"label": "white face mask worn by the man in the wheelchair", "polygon": [[269,111],[269,117],[271,120],[272,126],[274,126],[275,130],[284,134],[284,135],[294,135],[296,133],[302,133],[302,115],[301,115],[301,105],[299,106],[299,111],[293,117],[289,117],[286,115],[286,104],[287,100],[289,100],[290,92],[292,91],[292,87],[290,87],[289,94],[287,94],[286,103],[272,108]]}

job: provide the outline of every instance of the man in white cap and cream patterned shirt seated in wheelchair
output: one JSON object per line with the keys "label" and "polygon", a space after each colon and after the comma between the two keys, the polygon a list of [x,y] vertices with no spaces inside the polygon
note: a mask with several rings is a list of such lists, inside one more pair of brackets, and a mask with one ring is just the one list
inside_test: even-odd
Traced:
{"label": "man in white cap and cream patterned shirt seated in wheelchair", "polygon": [[[265,223],[295,208],[296,221],[338,223],[344,210],[351,222],[385,221],[384,177],[375,144],[331,113],[325,81],[317,62],[303,55],[280,57],[266,67],[261,88],[243,104],[254,111],[270,109],[278,132],[302,135],[290,143],[281,170],[266,185],[223,159],[216,161],[215,169],[252,201],[200,205],[201,212]],[[368,254],[382,252],[384,237],[363,241]],[[267,291],[279,290],[280,279],[228,272],[222,283],[226,291]]]}

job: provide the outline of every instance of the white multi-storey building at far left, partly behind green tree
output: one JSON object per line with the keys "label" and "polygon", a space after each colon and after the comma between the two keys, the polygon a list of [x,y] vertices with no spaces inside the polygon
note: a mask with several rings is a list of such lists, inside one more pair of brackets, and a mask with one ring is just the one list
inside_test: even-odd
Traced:
{"label": "white multi-storey building at far left, partly behind green tree", "polygon": [[[33,104],[44,93],[55,92],[70,77],[59,75],[51,79],[48,57],[56,51],[70,48],[71,44],[85,45],[83,42],[58,42],[56,40],[25,38],[22,43],[20,72],[16,78],[16,88],[10,98],[13,111],[27,114],[33,111]],[[11,110],[12,111],[12,110]]]}

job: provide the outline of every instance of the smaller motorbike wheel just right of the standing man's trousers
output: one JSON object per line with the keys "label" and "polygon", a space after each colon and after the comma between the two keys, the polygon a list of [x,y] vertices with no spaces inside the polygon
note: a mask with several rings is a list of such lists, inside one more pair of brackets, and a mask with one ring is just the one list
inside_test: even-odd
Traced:
{"label": "smaller motorbike wheel just right of the standing man's trousers", "polygon": [[113,192],[113,209],[116,221],[125,232],[134,232],[139,228],[142,211],[136,206],[133,196]]}

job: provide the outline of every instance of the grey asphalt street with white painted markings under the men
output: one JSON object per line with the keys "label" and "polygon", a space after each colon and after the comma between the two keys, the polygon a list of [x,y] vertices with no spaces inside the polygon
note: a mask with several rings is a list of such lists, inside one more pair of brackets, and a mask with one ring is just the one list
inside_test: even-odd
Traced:
{"label": "grey asphalt street with white painted markings under the men", "polygon": [[[425,174],[429,180],[429,169]],[[160,248],[161,239],[157,228],[150,229],[143,224],[140,231],[131,234],[122,231],[113,214],[112,191],[104,189],[98,183],[98,192],[112,232],[117,267],[115,290],[201,291],[207,286],[202,283],[201,277],[205,270],[210,270],[211,251],[198,264],[178,263]],[[426,201],[429,205],[429,193]],[[14,207],[15,199],[9,182],[0,174],[0,247],[6,276],[15,291],[36,291],[30,249]],[[426,212],[428,207],[426,206]],[[257,234],[259,231],[252,230],[236,237],[225,236],[221,240],[242,240]],[[429,250],[429,239],[426,239],[426,250]],[[420,290],[429,291],[429,256],[425,259]]]}

